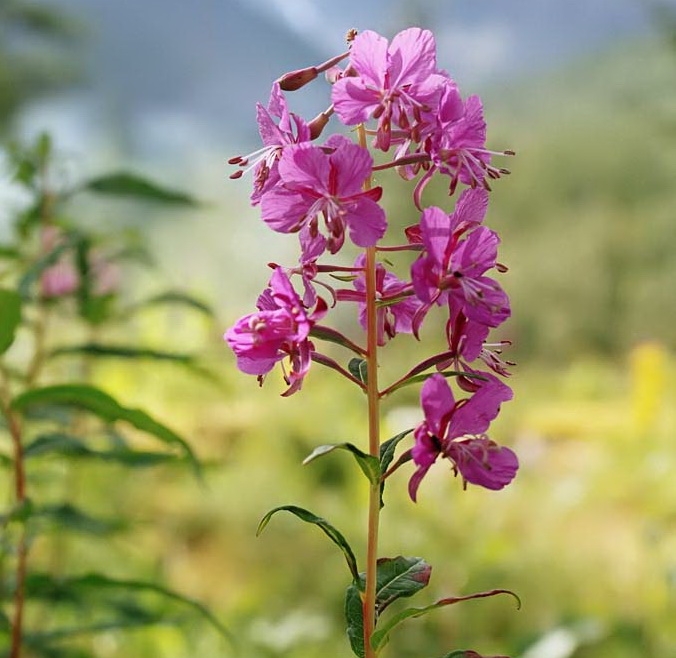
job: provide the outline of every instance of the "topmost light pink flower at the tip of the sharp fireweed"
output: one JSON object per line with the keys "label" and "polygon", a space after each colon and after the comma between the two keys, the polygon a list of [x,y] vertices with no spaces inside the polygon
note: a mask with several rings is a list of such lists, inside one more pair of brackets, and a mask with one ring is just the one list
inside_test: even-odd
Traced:
{"label": "topmost light pink flower at the tip of the sharp fireweed", "polygon": [[333,85],[331,99],[347,125],[377,119],[375,145],[387,151],[392,125],[415,130],[423,115],[438,105],[443,80],[429,30],[409,28],[389,45],[384,37],[366,30],[354,39],[350,65]]}

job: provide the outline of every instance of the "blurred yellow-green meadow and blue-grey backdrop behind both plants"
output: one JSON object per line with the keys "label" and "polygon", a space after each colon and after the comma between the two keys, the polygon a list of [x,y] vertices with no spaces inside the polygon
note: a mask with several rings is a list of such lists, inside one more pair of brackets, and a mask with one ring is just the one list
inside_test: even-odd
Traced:
{"label": "blurred yellow-green meadow and blue-grey backdrop behind both plants", "polygon": [[[363,400],[317,367],[290,399],[275,378],[261,391],[236,371],[220,335],[253,308],[265,264],[293,262],[295,246],[262,226],[250,179],[228,180],[227,159],[258,148],[254,105],[273,79],[342,51],[351,27],[391,37],[412,24],[434,30],[440,66],[463,94],[482,96],[489,146],[517,152],[487,222],[509,266],[501,281],[513,317],[501,337],[518,362],[515,399],[492,435],[522,468],[493,493],[463,492],[439,466],[416,505],[402,469],[389,484],[381,552],[432,563],[416,605],[501,587],[523,607],[490,599],[413,620],[387,655],[676,657],[673,0],[1,0],[3,140],[48,131],[69,175],[131,169],[208,202],[115,216],[145,234],[159,263],[132,287],[162,277],[217,310],[213,324],[158,314],[137,327],[142,340],[207,355],[220,384],[158,365],[95,373],[183,431],[210,465],[206,486],[160,468],[120,488],[102,467],[79,491],[107,501],[115,490],[136,520],[118,554],[209,605],[242,655],[347,655],[347,574],[335,547],[292,518],[254,534],[268,509],[293,503],[335,523],[362,555],[364,519],[353,510],[366,491],[353,463],[300,462],[321,443],[362,442]],[[327,93],[318,81],[292,108],[314,116]],[[9,176],[0,235],[21,202]],[[417,221],[405,194],[387,201],[402,226]],[[448,204],[442,187],[426,194]],[[110,220],[103,210],[86,221]],[[402,337],[385,358],[405,367],[408,344]],[[387,403],[387,436],[417,421],[416,404],[413,389]],[[75,547],[73,564],[83,559],[110,559],[109,547]],[[102,657],[230,653],[208,633],[164,627],[92,642]]]}

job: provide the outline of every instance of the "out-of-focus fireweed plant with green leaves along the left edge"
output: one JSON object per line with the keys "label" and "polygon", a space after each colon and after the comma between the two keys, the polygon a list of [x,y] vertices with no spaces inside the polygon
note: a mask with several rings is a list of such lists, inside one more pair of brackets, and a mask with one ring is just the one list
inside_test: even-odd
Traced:
{"label": "out-of-focus fireweed plant with green leaves along the left edge", "polygon": [[136,323],[168,304],[210,309],[179,290],[130,295],[130,265],[152,263],[141,236],[119,221],[87,230],[74,203],[196,201],[127,172],[76,180],[47,135],[6,156],[24,202],[7,213],[0,243],[0,656],[91,658],[102,635],[121,644],[125,631],[134,642],[160,625],[187,633],[203,629],[200,618],[226,635],[203,605],[139,578],[118,550],[115,539],[138,523],[125,499],[131,478],[200,465],[161,420],[99,388],[95,371],[111,359],[198,369],[194,355],[138,344]]}

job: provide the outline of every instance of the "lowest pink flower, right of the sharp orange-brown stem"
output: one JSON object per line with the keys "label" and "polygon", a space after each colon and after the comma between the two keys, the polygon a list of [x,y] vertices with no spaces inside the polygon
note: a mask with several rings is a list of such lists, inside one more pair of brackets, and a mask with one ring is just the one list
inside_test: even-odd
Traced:
{"label": "lowest pink flower, right of the sharp orange-brown stem", "polygon": [[502,489],[514,479],[519,468],[516,455],[485,435],[512,391],[496,377],[482,376],[486,381],[477,392],[457,402],[443,375],[434,374],[423,385],[420,400],[425,419],[415,429],[411,450],[418,468],[408,485],[414,501],[420,482],[439,455],[451,461],[464,482]]}

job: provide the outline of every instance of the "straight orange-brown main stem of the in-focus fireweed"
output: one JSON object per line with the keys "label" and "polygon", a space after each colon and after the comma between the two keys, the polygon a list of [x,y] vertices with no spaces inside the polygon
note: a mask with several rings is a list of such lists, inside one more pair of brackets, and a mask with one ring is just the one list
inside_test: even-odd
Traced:
{"label": "straight orange-brown main stem of the in-focus fireweed", "polygon": [[[366,132],[359,127],[359,143],[366,147]],[[368,189],[371,181],[364,183]],[[380,395],[378,393],[378,332],[376,306],[376,248],[366,248],[366,364],[368,378],[366,398],[368,401],[369,454],[380,457]],[[380,520],[380,483],[369,488],[368,537],[366,544],[366,590],[363,599],[364,658],[375,658],[371,648],[371,636],[376,626],[376,569],[378,561],[378,524]]]}

